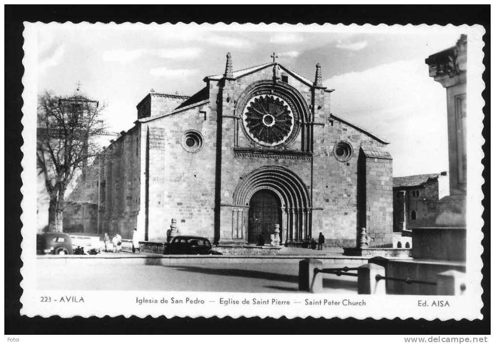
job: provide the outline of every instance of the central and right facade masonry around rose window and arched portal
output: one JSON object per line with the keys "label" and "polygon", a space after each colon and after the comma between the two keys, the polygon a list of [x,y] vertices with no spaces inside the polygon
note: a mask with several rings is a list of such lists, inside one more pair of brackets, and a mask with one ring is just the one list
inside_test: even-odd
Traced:
{"label": "central and right facade masonry around rose window and arched portal", "polygon": [[[284,166],[294,171],[309,188],[310,194],[312,194],[311,235],[317,237],[319,232],[323,232],[327,246],[355,246],[357,233],[357,155],[359,147],[361,145],[386,147],[386,145],[338,120],[329,121],[330,93],[317,89],[314,95],[314,104],[312,104],[311,88],[289,75],[289,84],[297,88],[308,105],[313,105],[315,116],[313,161],[236,156],[234,154],[235,135],[233,133],[236,120],[230,117],[234,116],[235,105],[232,101],[227,102],[226,98],[236,99],[252,82],[271,79],[271,77],[271,68],[267,68],[235,81],[226,81],[223,87],[223,97],[221,98],[223,115],[221,203],[232,203],[234,190],[243,175],[260,166]],[[210,103],[211,100],[212,98],[210,98]],[[242,128],[238,129],[239,146],[253,146],[252,141],[244,134]],[[347,162],[341,162],[334,157],[333,148],[339,141],[346,141],[352,146],[352,156]],[[299,141],[296,140],[287,148],[300,149],[300,137]],[[386,246],[388,242],[392,243],[391,161],[373,162],[373,165],[369,166],[370,174],[375,175],[372,178],[378,180],[378,183],[375,183],[374,180],[369,180],[368,189],[371,192],[369,200],[373,203],[373,214],[370,215],[370,218],[373,218],[377,226],[374,228],[374,233],[376,233],[377,237],[375,243],[377,245],[380,243],[380,246]],[[372,187],[370,188],[370,186]],[[230,237],[231,221],[231,208],[228,206],[222,207],[221,238]]]}

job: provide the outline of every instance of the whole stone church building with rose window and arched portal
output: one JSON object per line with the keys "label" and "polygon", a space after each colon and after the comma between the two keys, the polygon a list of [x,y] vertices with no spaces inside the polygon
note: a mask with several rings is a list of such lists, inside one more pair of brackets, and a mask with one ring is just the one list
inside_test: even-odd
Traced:
{"label": "whole stone church building with rose window and arched portal", "polygon": [[233,71],[229,53],[204,82],[192,97],[148,94],[97,159],[75,194],[97,185],[95,232],[164,242],[175,218],[225,245],[268,242],[278,224],[286,245],[322,232],[356,246],[364,227],[370,246],[392,246],[388,142],[331,113],[319,65],[314,81],[275,61]]}

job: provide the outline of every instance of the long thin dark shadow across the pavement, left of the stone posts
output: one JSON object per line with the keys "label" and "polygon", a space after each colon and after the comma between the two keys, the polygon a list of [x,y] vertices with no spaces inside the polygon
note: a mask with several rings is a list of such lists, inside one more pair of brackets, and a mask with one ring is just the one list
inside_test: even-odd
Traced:
{"label": "long thin dark shadow across the pavement, left of the stone posts", "polygon": [[169,265],[169,268],[175,268],[179,271],[198,272],[201,274],[220,275],[220,276],[237,276],[247,278],[259,278],[262,280],[282,281],[297,283],[297,276],[277,274],[274,272],[243,270],[243,269],[219,269],[219,268],[203,268],[198,266],[182,266]]}

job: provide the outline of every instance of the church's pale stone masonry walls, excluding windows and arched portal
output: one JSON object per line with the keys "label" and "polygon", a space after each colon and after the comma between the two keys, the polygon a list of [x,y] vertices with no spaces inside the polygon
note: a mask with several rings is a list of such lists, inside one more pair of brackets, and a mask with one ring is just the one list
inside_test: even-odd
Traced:
{"label": "church's pale stone masonry walls, excluding windows and arched portal", "polygon": [[[238,80],[226,80],[225,84],[223,80],[209,81],[209,103],[143,121],[110,145],[102,169],[103,230],[119,231],[130,238],[132,229],[138,227],[140,233],[147,230],[148,241],[163,242],[171,218],[176,218],[180,234],[210,240],[231,238],[233,194],[240,178],[258,167],[274,165],[293,171],[308,188],[313,203],[311,235],[316,238],[323,232],[326,246],[355,246],[359,147],[386,145],[331,119],[330,93],[316,89],[313,94],[310,86],[288,75],[288,83],[299,91],[308,107],[311,105],[314,114],[313,156],[296,159],[236,155],[236,143],[238,147],[253,145],[236,119],[239,114],[235,113],[235,101],[252,82],[271,79],[272,75],[271,68],[267,68]],[[169,104],[157,101],[153,105],[153,101],[154,98],[146,104],[152,116],[169,112]],[[197,152],[184,146],[183,136],[190,130],[202,137],[202,148]],[[344,162],[337,160],[333,152],[340,141],[352,147],[350,159]],[[299,135],[286,149],[301,147]],[[371,246],[389,246],[392,160],[366,159],[364,166],[365,183],[361,187],[365,191]],[[218,233],[215,192],[221,205]]]}

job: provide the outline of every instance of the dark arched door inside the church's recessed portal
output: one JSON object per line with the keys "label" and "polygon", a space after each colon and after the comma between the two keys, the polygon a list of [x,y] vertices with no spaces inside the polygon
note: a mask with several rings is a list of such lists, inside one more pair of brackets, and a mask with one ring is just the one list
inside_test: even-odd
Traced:
{"label": "dark arched door inside the church's recessed portal", "polygon": [[265,243],[269,243],[276,223],[282,227],[280,198],[270,190],[257,191],[249,201],[247,242],[257,243],[261,234]]}

